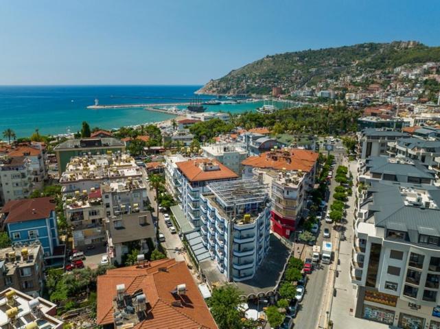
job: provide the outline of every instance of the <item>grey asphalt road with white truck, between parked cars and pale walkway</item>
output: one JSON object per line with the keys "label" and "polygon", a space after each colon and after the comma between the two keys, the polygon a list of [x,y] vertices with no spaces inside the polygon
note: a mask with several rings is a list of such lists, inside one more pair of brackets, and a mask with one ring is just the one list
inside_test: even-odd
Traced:
{"label": "grey asphalt road with white truck, between parked cars and pale walkway", "polygon": [[[336,165],[334,167],[334,175],[331,181],[331,184],[329,185],[329,202],[327,203],[327,206],[332,204],[333,202],[333,193],[334,188],[338,185],[334,181],[334,176],[336,175],[336,168],[338,168],[338,165],[342,163],[342,154],[345,150],[338,150],[337,152],[332,152],[335,156]],[[325,212],[327,212],[327,209],[325,209]],[[325,212],[323,212],[325,216]],[[331,241],[333,238],[333,234],[336,234],[336,232],[333,229],[334,224],[325,223],[324,220],[321,221],[321,227],[319,230],[319,235],[316,236],[316,245],[321,246],[323,245],[323,241]],[[324,239],[323,237],[323,230],[324,228],[328,228],[331,232],[330,239]],[[334,247],[333,247],[334,248]],[[310,255],[311,256],[311,255]],[[333,260],[336,261],[336,260]],[[319,324],[319,315],[320,315],[320,308],[322,307],[323,303],[323,297],[325,295],[325,289],[329,289],[329,285],[327,285],[327,277],[329,275],[329,265],[327,264],[321,264],[316,265],[314,268],[314,271],[309,274],[309,280],[305,287],[305,295],[303,302],[301,302],[301,306],[299,308],[299,313],[294,319],[295,328],[300,329],[315,329],[317,328]]]}

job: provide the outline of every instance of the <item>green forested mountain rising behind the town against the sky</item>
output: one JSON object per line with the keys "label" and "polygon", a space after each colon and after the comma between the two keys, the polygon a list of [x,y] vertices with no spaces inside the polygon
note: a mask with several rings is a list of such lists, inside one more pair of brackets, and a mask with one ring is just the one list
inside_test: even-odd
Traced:
{"label": "green forested mountain rising behind the town against the sky", "polygon": [[266,56],[211,80],[196,93],[208,95],[270,94],[273,86],[294,90],[327,79],[386,71],[404,64],[440,62],[440,47],[416,41],[294,51]]}

